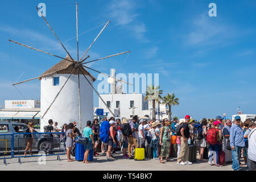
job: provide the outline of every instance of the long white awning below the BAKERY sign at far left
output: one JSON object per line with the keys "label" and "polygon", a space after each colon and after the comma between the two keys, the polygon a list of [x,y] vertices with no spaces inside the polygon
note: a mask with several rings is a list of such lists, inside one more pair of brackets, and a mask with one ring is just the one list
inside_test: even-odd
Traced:
{"label": "long white awning below the BAKERY sign at far left", "polygon": [[1,119],[40,119],[39,111],[0,111]]}

